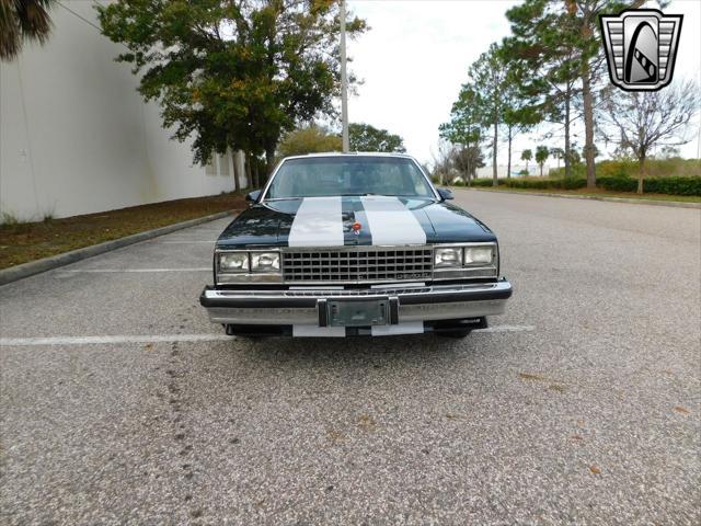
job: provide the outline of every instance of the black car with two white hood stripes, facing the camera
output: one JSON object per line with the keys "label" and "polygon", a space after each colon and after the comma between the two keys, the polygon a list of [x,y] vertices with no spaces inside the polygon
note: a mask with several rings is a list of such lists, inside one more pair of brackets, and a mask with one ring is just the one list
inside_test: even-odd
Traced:
{"label": "black car with two white hood stripes, facing the camera", "polygon": [[409,156],[289,157],[246,198],[200,296],[227,334],[464,336],[512,295],[496,236]]}

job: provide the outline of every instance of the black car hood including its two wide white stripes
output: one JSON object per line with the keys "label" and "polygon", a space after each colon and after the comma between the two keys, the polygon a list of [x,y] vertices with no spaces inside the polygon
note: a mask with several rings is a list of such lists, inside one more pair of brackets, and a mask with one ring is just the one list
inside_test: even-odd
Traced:
{"label": "black car hood including its two wide white stripes", "polygon": [[348,196],[255,204],[225,229],[217,245],[393,245],[495,240],[484,224],[446,202]]}

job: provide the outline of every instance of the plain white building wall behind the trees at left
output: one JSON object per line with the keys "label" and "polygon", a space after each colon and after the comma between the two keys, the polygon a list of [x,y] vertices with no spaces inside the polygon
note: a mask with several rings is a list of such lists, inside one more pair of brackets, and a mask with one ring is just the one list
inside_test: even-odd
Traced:
{"label": "plain white building wall behind the trees at left", "polygon": [[[64,3],[97,24],[92,2]],[[231,156],[206,174],[161,128],[130,67],[114,61],[123,46],[61,5],[51,19],[45,46],[0,62],[1,213],[66,217],[233,190]]]}

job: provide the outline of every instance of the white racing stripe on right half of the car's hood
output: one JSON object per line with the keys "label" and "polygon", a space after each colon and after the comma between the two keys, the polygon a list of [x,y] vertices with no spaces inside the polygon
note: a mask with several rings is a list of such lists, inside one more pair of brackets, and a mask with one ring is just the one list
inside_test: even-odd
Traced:
{"label": "white racing stripe on right half of the car's hood", "polygon": [[361,197],[372,244],[425,244],[426,232],[414,214],[397,197]]}

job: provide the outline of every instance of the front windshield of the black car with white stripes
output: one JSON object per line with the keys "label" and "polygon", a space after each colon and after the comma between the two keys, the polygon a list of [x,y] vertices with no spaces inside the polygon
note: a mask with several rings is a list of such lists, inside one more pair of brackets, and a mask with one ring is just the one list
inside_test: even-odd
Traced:
{"label": "front windshield of the black car with white stripes", "polygon": [[436,197],[426,178],[411,159],[310,157],[285,161],[265,198],[335,195]]}

